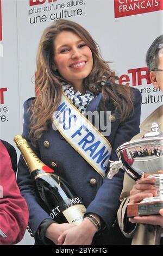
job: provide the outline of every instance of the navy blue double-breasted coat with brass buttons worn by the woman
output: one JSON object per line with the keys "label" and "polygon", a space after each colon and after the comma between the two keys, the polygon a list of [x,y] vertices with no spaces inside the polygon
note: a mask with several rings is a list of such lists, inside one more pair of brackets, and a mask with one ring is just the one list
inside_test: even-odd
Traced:
{"label": "navy blue double-breasted coat with brass buttons worn by the woman", "polygon": [[[114,113],[116,120],[111,123],[111,134],[107,139],[112,146],[110,160],[113,161],[118,160],[115,152],[116,148],[122,143],[130,141],[134,135],[140,132],[141,94],[137,89],[133,89],[133,92],[134,113],[123,123],[120,123],[118,114]],[[27,139],[32,148],[32,143],[28,139],[30,112],[27,112],[27,109],[33,100],[34,98],[30,98],[24,102],[23,125],[23,136]],[[101,94],[90,102],[87,106],[87,110],[99,110],[100,100]],[[112,109],[113,106],[109,103],[108,111],[112,111]],[[43,144],[45,141],[49,142],[48,148],[45,148]],[[86,214],[92,212],[104,220],[107,227],[104,231],[105,235],[102,237],[101,242],[99,242],[101,235],[98,236],[97,244],[109,244],[109,238],[106,233],[109,234],[110,228],[116,219],[118,207],[120,206],[119,198],[123,185],[123,171],[118,172],[112,180],[108,178],[103,179],[101,175],[68,144],[60,135],[59,131],[52,129],[52,125],[49,126],[46,132],[43,132],[43,135],[39,141],[37,141],[37,148],[33,148],[33,150],[47,166],[53,168],[52,162],[57,163],[57,172],[70,184],[77,196],[82,199],[83,204],[87,208]],[[95,185],[90,183],[91,179],[97,180]],[[40,223],[46,218],[49,218],[49,215],[36,202],[32,179],[22,157],[20,157],[18,164],[17,182],[29,207],[29,226],[35,235],[36,243],[41,243],[36,231]]]}

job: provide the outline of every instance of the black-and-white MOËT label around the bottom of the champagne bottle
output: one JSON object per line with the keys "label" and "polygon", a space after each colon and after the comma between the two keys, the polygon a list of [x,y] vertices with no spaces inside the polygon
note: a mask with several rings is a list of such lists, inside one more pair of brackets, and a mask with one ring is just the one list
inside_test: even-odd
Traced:
{"label": "black-and-white MO\u00cbT label around the bottom of the champagne bottle", "polygon": [[55,206],[49,215],[53,220],[60,214],[63,214],[68,223],[79,225],[83,221],[83,216],[86,211],[78,197],[68,198]]}

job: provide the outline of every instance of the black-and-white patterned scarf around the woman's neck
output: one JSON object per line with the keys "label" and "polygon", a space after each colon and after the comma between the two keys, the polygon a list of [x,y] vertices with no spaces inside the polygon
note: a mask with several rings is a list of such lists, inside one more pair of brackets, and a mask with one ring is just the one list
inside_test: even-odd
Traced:
{"label": "black-and-white patterned scarf around the woman's neck", "polygon": [[70,84],[64,84],[62,86],[62,90],[82,114],[84,114],[89,102],[95,97],[95,94],[89,92],[88,90],[86,90],[86,93],[82,95],[82,93],[79,91],[74,90]]}

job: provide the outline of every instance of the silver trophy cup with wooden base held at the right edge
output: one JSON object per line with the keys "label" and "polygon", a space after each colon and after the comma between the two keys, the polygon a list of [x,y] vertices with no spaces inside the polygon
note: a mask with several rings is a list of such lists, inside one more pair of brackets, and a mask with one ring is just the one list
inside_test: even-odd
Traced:
{"label": "silver trophy cup with wooden base held at the right edge", "polygon": [[108,178],[112,179],[120,168],[134,180],[156,178],[154,187],[158,191],[156,197],[143,199],[138,204],[128,204],[127,215],[159,214],[163,208],[163,133],[159,132],[159,125],[153,123],[152,132],[146,133],[142,139],[136,139],[122,144],[116,149],[119,161],[111,162]]}

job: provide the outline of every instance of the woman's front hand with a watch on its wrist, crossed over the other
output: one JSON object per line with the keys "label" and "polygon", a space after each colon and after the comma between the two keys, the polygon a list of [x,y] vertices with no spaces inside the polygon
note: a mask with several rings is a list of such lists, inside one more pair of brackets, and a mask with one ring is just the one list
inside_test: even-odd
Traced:
{"label": "woman's front hand with a watch on its wrist, crossed over the other", "polygon": [[64,231],[58,239],[58,245],[91,245],[96,232],[96,226],[88,218],[84,218],[80,225]]}

